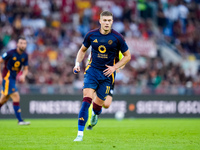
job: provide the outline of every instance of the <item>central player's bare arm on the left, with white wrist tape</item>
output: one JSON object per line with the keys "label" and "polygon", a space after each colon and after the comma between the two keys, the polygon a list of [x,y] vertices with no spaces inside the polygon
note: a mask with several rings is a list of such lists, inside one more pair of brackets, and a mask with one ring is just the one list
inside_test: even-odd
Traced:
{"label": "central player's bare arm on the left, with white wrist tape", "polygon": [[80,63],[82,62],[83,58],[85,57],[85,53],[87,51],[87,47],[85,47],[83,44],[81,46],[81,48],[78,51],[78,54],[76,56],[76,63],[75,66],[73,68],[73,72],[74,74],[77,74],[80,72]]}

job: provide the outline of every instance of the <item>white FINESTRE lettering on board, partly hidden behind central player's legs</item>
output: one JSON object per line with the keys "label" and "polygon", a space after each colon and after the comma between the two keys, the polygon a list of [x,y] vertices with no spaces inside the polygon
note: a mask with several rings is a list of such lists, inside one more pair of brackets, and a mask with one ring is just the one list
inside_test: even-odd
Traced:
{"label": "white FINESTRE lettering on board, partly hidden behind central player's legs", "polygon": [[[29,103],[30,114],[78,114],[81,101],[59,100],[59,101],[37,101],[32,100]],[[113,101],[108,109],[103,109],[102,114],[114,114],[117,111],[127,112],[127,102]]]}

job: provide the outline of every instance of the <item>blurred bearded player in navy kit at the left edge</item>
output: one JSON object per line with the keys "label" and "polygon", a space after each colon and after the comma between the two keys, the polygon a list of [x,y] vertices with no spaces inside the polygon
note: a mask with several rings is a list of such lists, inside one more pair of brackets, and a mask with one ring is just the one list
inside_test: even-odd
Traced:
{"label": "blurred bearded player in navy kit at the left edge", "polygon": [[[21,109],[19,106],[20,96],[15,85],[17,74],[23,67],[23,72],[19,76],[19,81],[24,82],[28,73],[28,55],[25,53],[27,41],[24,37],[20,37],[17,41],[17,48],[5,52],[0,57],[0,65],[4,63],[2,74],[0,73],[0,84],[2,84],[0,108],[9,98],[13,100],[13,108],[15,116],[18,119],[18,125],[29,125],[21,118]],[[1,66],[0,66],[1,67]]]}

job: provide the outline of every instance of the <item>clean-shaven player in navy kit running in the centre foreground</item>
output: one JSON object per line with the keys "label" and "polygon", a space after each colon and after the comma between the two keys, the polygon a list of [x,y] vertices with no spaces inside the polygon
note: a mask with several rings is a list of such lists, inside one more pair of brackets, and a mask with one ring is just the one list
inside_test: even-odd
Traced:
{"label": "clean-shaven player in navy kit running in the centre foreground", "polygon": [[[78,116],[78,135],[74,141],[83,140],[83,131],[88,119],[88,108],[92,102],[94,92],[97,96],[93,100],[92,126],[97,123],[97,116],[100,115],[110,87],[114,84],[115,71],[131,59],[131,54],[122,35],[111,29],[113,23],[112,13],[103,11],[100,14],[99,23],[101,25],[99,29],[86,34],[73,69],[75,74],[80,72],[80,63],[87,49],[92,46],[91,61],[84,73],[83,102]],[[119,51],[122,52],[124,57],[115,63]]]}

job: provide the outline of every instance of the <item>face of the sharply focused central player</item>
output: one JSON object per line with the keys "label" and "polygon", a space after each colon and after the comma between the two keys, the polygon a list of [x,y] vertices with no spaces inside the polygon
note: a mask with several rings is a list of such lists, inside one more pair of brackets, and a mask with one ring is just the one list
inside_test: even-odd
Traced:
{"label": "face of the sharply focused central player", "polygon": [[112,16],[101,16],[99,23],[101,24],[101,29],[104,31],[110,31],[113,24]]}

